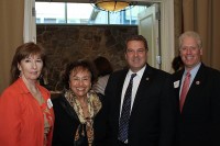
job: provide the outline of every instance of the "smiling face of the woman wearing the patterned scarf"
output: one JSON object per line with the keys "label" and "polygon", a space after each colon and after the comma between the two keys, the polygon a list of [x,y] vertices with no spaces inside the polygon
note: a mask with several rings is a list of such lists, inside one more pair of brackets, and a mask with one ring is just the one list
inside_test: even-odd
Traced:
{"label": "smiling face of the woman wearing the patterned scarf", "polygon": [[86,98],[91,88],[91,74],[88,69],[77,67],[69,75],[69,88],[78,98]]}

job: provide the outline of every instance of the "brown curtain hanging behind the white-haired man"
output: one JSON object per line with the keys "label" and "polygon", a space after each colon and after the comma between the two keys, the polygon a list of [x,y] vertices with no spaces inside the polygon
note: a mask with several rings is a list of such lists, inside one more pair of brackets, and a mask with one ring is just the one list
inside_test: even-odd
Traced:
{"label": "brown curtain hanging behind the white-haired man", "polygon": [[202,37],[202,61],[220,70],[220,1],[182,0],[183,32],[196,31]]}

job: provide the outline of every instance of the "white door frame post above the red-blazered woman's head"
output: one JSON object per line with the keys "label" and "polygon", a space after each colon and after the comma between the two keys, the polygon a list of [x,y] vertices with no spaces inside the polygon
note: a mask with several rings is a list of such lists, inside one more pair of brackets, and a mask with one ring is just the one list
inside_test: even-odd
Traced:
{"label": "white door frame post above the red-blazered woman's head", "polygon": [[35,0],[24,0],[23,41],[36,43]]}

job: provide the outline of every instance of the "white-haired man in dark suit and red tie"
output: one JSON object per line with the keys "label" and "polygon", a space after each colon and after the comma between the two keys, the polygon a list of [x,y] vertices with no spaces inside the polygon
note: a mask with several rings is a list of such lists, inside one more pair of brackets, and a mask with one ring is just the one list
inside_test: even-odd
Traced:
{"label": "white-haired man in dark suit and red tie", "polygon": [[[185,68],[173,75],[179,101],[178,144],[220,146],[220,72],[201,63],[201,38],[196,32],[180,35],[179,53]],[[187,72],[188,92],[183,98]]]}

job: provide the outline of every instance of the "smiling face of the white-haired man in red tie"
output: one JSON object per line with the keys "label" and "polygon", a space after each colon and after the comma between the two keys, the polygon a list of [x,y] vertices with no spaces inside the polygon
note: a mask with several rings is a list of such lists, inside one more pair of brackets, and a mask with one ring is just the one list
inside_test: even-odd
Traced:
{"label": "smiling face of the white-haired man in red tie", "polygon": [[201,61],[202,49],[194,37],[185,37],[179,52],[182,60],[187,69],[194,68]]}

